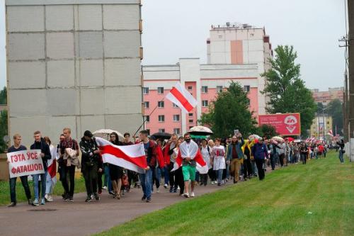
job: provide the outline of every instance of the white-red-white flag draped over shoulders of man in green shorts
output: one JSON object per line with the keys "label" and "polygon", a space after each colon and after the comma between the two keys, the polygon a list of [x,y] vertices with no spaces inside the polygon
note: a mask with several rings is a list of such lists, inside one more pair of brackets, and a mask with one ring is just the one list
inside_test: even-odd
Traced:
{"label": "white-red-white flag draped over shoulders of man in green shorts", "polygon": [[202,154],[200,153],[199,147],[193,141],[190,141],[190,144],[187,144],[187,142],[181,143],[179,146],[176,162],[173,164],[173,169],[171,172],[181,167],[185,157],[189,157],[190,159],[195,160],[195,163],[197,164],[197,170],[200,174],[207,174],[209,170],[207,168],[207,163],[204,159],[202,159]]}

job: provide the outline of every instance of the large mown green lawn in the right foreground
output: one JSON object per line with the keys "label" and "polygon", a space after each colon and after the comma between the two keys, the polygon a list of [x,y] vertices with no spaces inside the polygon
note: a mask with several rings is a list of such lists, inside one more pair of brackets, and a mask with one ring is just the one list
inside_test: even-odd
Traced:
{"label": "large mown green lawn in the right foreground", "polygon": [[354,235],[353,198],[354,164],[331,152],[98,235]]}

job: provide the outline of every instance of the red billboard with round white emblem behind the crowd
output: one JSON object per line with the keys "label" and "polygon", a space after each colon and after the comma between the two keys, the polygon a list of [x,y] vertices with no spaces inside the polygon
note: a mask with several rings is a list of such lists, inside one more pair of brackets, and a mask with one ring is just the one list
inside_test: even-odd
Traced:
{"label": "red billboard with round white emblem behind the crowd", "polygon": [[301,134],[300,113],[259,115],[259,125],[272,125],[277,133],[285,136]]}

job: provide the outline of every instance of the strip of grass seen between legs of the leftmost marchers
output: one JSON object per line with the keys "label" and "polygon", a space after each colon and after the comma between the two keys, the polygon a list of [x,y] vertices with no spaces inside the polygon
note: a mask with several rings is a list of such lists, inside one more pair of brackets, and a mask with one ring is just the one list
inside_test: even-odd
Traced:
{"label": "strip of grass seen between legs of the leftmost marchers", "polygon": [[[59,178],[57,178],[59,179]],[[20,178],[18,178],[18,182],[16,183],[16,198],[18,202],[21,201],[27,201],[27,198],[25,197],[25,191],[23,190],[23,186],[21,184],[21,181],[19,181]],[[28,181],[28,184],[30,186],[30,192],[32,193],[32,198],[33,198],[33,181]],[[75,193],[80,193],[86,191],[85,188],[85,182],[84,178],[82,176],[79,176],[78,178],[75,179]],[[57,181],[57,184],[55,185],[54,189],[54,195],[62,195],[64,192],[64,189],[62,187],[62,182]],[[8,181],[0,181],[0,206],[4,206],[10,203],[10,185],[8,184]]]}

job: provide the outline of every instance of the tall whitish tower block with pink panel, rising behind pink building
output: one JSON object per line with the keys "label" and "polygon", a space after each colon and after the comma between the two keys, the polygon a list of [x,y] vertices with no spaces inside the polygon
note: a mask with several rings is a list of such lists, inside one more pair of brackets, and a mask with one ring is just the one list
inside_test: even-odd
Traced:
{"label": "tall whitish tower block with pink panel, rising behind pink building", "polygon": [[[258,74],[270,69],[269,58],[273,57],[270,37],[265,28],[249,24],[226,23],[225,26],[212,26],[207,39],[208,64],[253,64],[258,65]],[[268,101],[261,91],[265,78],[258,76],[258,112],[265,113]]]}

